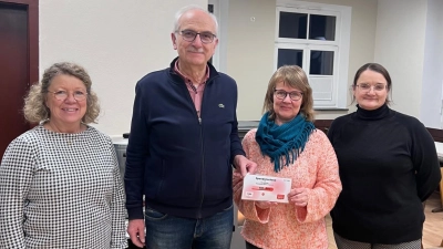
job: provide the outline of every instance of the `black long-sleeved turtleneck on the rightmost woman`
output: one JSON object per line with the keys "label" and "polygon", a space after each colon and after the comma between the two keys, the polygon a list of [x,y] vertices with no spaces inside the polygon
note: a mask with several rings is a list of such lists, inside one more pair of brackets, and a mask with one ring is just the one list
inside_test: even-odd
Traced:
{"label": "black long-sleeved turtleneck on the rightmost woman", "polygon": [[440,165],[432,136],[415,117],[387,105],[334,120],[328,137],[343,190],[331,211],[339,236],[368,243],[420,239],[422,201],[437,187]]}

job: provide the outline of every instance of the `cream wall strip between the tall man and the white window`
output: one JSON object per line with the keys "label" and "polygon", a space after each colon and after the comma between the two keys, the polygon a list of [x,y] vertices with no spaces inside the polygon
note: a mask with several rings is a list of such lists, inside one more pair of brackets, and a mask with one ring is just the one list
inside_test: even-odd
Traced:
{"label": "cream wall strip between the tall man and the white window", "polygon": [[274,73],[276,1],[230,0],[227,73],[238,84],[237,118],[258,121]]}

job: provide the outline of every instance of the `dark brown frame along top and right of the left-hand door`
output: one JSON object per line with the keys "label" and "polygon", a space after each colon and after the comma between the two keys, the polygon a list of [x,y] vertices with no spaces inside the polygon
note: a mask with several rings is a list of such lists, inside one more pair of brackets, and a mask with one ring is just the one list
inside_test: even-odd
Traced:
{"label": "dark brown frame along top and right of the left-hand door", "polygon": [[[0,0],[28,9],[28,89],[39,81],[39,0]],[[31,126],[30,126],[31,127]]]}

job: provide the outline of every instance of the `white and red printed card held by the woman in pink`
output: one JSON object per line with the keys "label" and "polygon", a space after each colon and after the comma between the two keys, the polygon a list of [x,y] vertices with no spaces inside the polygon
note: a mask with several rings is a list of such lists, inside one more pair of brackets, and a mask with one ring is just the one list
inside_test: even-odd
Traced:
{"label": "white and red printed card held by the woman in pink", "polygon": [[247,174],[243,179],[241,199],[288,203],[290,178]]}

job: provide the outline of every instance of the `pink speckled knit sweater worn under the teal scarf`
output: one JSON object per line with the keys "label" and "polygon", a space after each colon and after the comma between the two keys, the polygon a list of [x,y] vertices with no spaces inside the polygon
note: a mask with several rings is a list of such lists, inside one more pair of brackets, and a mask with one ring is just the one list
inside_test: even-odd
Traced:
{"label": "pink speckled knit sweater worn under the teal scarf", "polygon": [[253,200],[241,200],[240,181],[234,186],[234,200],[245,215],[243,237],[262,249],[327,249],[324,216],[332,209],[341,191],[336,153],[327,136],[316,129],[297,160],[274,172],[274,163],[262,156],[255,139],[257,129],[243,139],[246,156],[257,163],[256,175],[292,178],[292,188],[309,188],[308,205],[278,204],[258,209]]}

